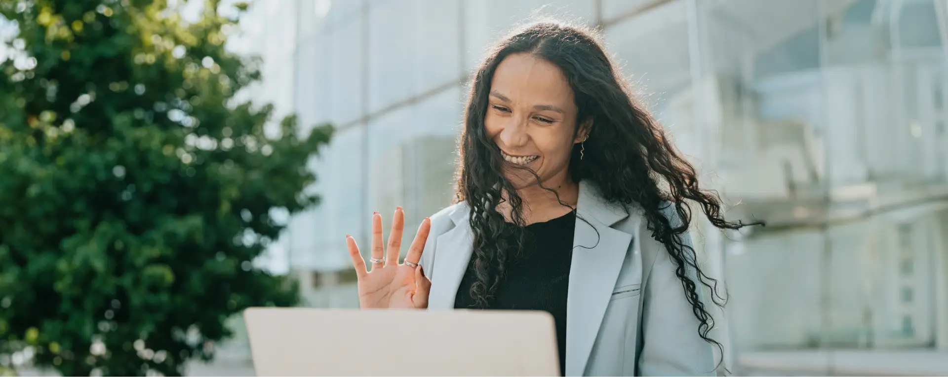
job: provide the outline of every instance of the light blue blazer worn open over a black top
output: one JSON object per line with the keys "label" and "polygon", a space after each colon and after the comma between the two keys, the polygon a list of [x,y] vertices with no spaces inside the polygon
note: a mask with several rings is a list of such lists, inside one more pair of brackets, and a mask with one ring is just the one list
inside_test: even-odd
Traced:
{"label": "light blue blazer worn open over a black top", "polygon": [[[472,252],[468,213],[459,203],[431,216],[421,259],[431,279],[428,308],[454,308]],[[608,203],[580,183],[576,213],[592,226],[576,220],[564,377],[715,375],[712,346],[699,337],[675,264],[641,209]],[[673,206],[666,213],[677,219]]]}

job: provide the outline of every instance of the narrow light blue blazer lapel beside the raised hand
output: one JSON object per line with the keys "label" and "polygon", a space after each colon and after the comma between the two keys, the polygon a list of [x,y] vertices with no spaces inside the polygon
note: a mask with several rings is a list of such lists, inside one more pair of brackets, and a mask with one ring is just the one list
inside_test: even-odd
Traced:
{"label": "narrow light blue blazer lapel beside the raised hand", "polygon": [[434,267],[431,268],[431,292],[428,293],[430,309],[454,309],[454,297],[465,276],[474,245],[466,208],[458,206],[451,212],[454,227],[437,238]]}

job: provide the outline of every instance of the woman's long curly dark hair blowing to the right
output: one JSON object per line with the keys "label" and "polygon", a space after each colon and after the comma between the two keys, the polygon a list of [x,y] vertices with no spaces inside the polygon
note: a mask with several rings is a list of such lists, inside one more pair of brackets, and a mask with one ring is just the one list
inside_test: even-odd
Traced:
{"label": "woman's long curly dark hair blowing to the right", "polygon": [[[720,197],[714,191],[699,188],[695,169],[675,150],[646,108],[632,98],[629,86],[596,41],[595,33],[557,22],[534,23],[501,40],[471,83],[465,129],[460,138],[457,201],[464,201],[471,209],[471,268],[477,281],[470,294],[476,305],[489,305],[504,277],[506,261],[520,253],[525,240],[522,200],[504,177],[501,151],[484,128],[494,72],[504,58],[515,53],[532,54],[562,70],[579,109],[577,127],[592,119],[584,158],[579,158],[578,145],[570,157],[571,178],[574,182],[593,183],[613,203],[640,206],[644,210],[652,236],[665,244],[677,266],[675,274],[682,280],[684,296],[701,322],[699,334],[722,350],[720,343],[708,336],[714,319],[699,296],[696,281],[688,278],[692,271],[696,272],[698,281],[711,289],[712,301],[724,305],[725,299],[717,290],[718,281],[702,272],[695,250],[682,240],[691,223],[687,201],[701,206],[711,224],[721,229],[737,229],[745,224],[723,219]],[[510,221],[497,209],[504,201],[511,208]],[[664,215],[669,202],[679,219]]]}

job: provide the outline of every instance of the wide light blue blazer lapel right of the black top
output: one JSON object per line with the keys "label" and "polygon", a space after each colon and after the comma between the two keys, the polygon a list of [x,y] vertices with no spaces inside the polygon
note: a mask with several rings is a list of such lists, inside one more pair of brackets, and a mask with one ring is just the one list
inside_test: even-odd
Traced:
{"label": "wide light blue blazer lapel right of the black top", "polygon": [[632,240],[629,233],[611,228],[612,224],[629,217],[628,210],[625,206],[603,200],[590,184],[579,184],[576,213],[566,302],[564,377],[580,377],[586,370],[599,325]]}

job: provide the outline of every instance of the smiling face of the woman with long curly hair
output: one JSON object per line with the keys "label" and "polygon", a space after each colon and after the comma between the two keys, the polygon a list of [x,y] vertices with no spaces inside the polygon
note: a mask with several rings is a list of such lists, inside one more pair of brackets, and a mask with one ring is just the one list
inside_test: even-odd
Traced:
{"label": "smiling face of the woman with long curly hair", "polygon": [[[494,72],[484,126],[506,160],[504,175],[515,188],[568,176],[574,143],[583,141],[576,133],[576,104],[573,88],[559,67],[531,54],[505,58]],[[546,185],[544,185],[546,186]]]}

